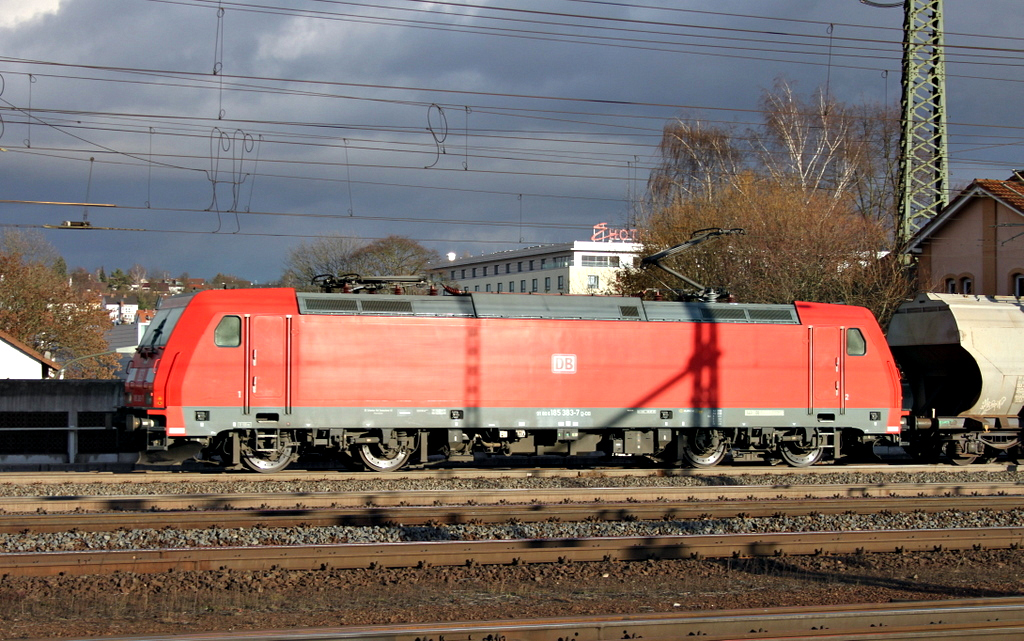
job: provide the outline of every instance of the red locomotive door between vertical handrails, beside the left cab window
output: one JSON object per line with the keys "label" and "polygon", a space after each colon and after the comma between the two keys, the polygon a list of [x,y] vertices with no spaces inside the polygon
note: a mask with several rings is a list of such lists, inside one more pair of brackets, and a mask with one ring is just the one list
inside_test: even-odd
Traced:
{"label": "red locomotive door between vertical handrails, beside the left cab window", "polygon": [[291,316],[250,316],[246,362],[250,407],[291,412]]}

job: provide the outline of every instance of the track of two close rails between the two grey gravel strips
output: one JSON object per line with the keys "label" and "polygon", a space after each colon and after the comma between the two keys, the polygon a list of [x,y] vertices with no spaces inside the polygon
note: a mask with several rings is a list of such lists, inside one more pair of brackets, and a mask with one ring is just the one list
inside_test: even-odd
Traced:
{"label": "track of two close rails between the two grey gravel strips", "polygon": [[[631,493],[631,501],[611,500],[608,495],[594,490],[566,490],[558,503],[508,501],[511,495],[504,495],[500,501],[481,505],[483,500],[473,495],[471,504],[436,502],[431,504],[431,494],[397,493],[387,500],[378,495],[373,497],[231,497],[229,500],[211,497],[131,497],[97,498],[82,497],[78,500],[60,498],[55,503],[40,500],[13,501],[6,503],[9,513],[0,513],[0,532],[56,532],[56,531],[113,531],[123,528],[161,528],[173,523],[178,529],[202,529],[209,527],[291,527],[296,525],[323,527],[332,525],[374,526],[374,525],[452,525],[461,523],[485,524],[504,522],[541,521],[623,521],[623,520],[692,520],[755,518],[767,516],[808,516],[815,514],[879,514],[886,512],[914,511],[938,513],[950,510],[965,512],[978,510],[1012,510],[1021,507],[1024,487],[1012,485],[997,492],[988,486],[989,493],[961,495],[963,487],[949,487],[944,496],[922,496],[912,494],[911,488],[902,488],[903,497],[885,496],[870,498],[866,488],[857,488],[862,498],[836,498],[838,492],[828,494],[819,486],[790,487],[784,494],[790,498],[780,499],[776,490],[764,494],[764,498],[751,497],[752,488],[729,488],[718,492],[714,497],[702,492],[657,492],[637,498]],[[760,489],[760,488],[758,488]],[[837,488],[838,489],[838,488]],[[844,488],[847,494],[850,488]],[[923,488],[924,489],[924,488]],[[978,490],[972,490],[977,493]],[[519,493],[517,493],[519,494]],[[528,493],[532,496],[535,493]],[[618,497],[622,492],[609,492]],[[516,498],[522,500],[526,493]],[[591,497],[597,496],[596,499]],[[740,498],[742,497],[742,498]],[[466,495],[462,495],[465,501]],[[353,507],[336,507],[341,499]],[[359,501],[369,503],[360,507]],[[452,498],[454,499],[454,498]],[[490,499],[495,499],[490,495]],[[770,500],[769,500],[770,499]],[[390,507],[381,507],[377,503]],[[256,504],[259,506],[256,507]],[[276,503],[279,507],[270,507]],[[77,511],[68,508],[75,506]],[[24,510],[27,513],[18,513]],[[111,511],[108,511],[111,510]]]}

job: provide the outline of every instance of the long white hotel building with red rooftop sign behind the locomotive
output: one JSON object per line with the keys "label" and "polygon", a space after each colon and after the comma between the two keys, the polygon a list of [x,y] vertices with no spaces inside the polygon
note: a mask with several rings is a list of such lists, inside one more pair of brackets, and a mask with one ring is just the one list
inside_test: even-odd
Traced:
{"label": "long white hotel building with red rooftop sign behind the locomotive", "polygon": [[430,271],[468,292],[611,294],[615,273],[639,251],[637,243],[577,241],[456,258]]}

